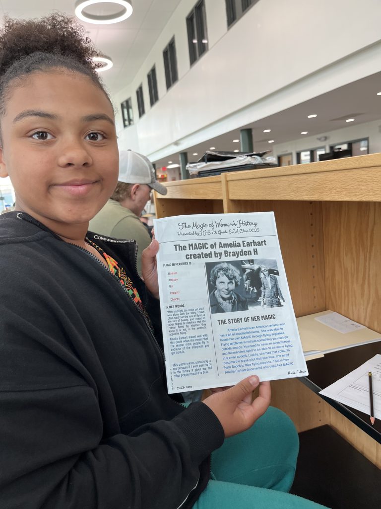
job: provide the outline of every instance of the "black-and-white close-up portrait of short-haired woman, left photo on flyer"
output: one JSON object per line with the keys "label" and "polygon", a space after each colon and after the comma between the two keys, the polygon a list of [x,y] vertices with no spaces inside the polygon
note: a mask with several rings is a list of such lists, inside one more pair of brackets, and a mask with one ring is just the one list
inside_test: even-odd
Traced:
{"label": "black-and-white close-up portrait of short-haired woman, left photo on flyer", "polygon": [[211,313],[247,311],[241,262],[206,263],[205,266]]}

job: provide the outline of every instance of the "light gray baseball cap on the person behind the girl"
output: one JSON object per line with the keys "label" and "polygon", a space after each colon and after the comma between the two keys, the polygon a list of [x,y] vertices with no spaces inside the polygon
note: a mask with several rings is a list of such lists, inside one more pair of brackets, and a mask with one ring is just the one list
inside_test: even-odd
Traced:
{"label": "light gray baseball cap on the person behind the girl", "polygon": [[155,179],[151,161],[132,150],[119,152],[119,182],[125,184],[147,184],[160,194],[167,194],[167,188]]}

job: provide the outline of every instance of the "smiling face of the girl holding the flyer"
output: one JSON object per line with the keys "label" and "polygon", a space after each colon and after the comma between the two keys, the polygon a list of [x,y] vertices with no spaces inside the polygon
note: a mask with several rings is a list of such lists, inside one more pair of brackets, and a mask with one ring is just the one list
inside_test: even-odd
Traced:
{"label": "smiling face of the girl holding the flyer", "polygon": [[56,231],[86,225],[111,196],[118,178],[114,112],[90,78],[31,74],[11,91],[1,128],[0,176],[10,176],[17,210]]}

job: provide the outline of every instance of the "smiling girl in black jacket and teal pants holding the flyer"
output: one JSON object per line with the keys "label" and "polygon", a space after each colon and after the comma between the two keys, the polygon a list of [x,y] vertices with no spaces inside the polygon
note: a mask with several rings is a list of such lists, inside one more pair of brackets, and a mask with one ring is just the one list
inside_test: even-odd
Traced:
{"label": "smiling girl in black jacket and teal pants holding the flyer", "polygon": [[267,410],[269,383],[252,376],[186,409],[168,397],[157,241],[144,284],[134,241],[87,232],[118,176],[93,55],[58,14],[6,19],[0,34],[0,176],[16,193],[0,218],[1,506],[317,507],[283,493],[297,435]]}

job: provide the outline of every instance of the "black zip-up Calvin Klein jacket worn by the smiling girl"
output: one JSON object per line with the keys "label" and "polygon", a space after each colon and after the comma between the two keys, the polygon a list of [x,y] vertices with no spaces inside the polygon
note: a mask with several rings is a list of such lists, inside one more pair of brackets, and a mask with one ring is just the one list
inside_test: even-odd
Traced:
{"label": "black zip-up Calvin Klein jacket worn by the smiling girl", "polygon": [[223,429],[166,392],[136,243],[88,236],[131,275],[154,330],[91,253],[0,216],[0,507],[191,507]]}

